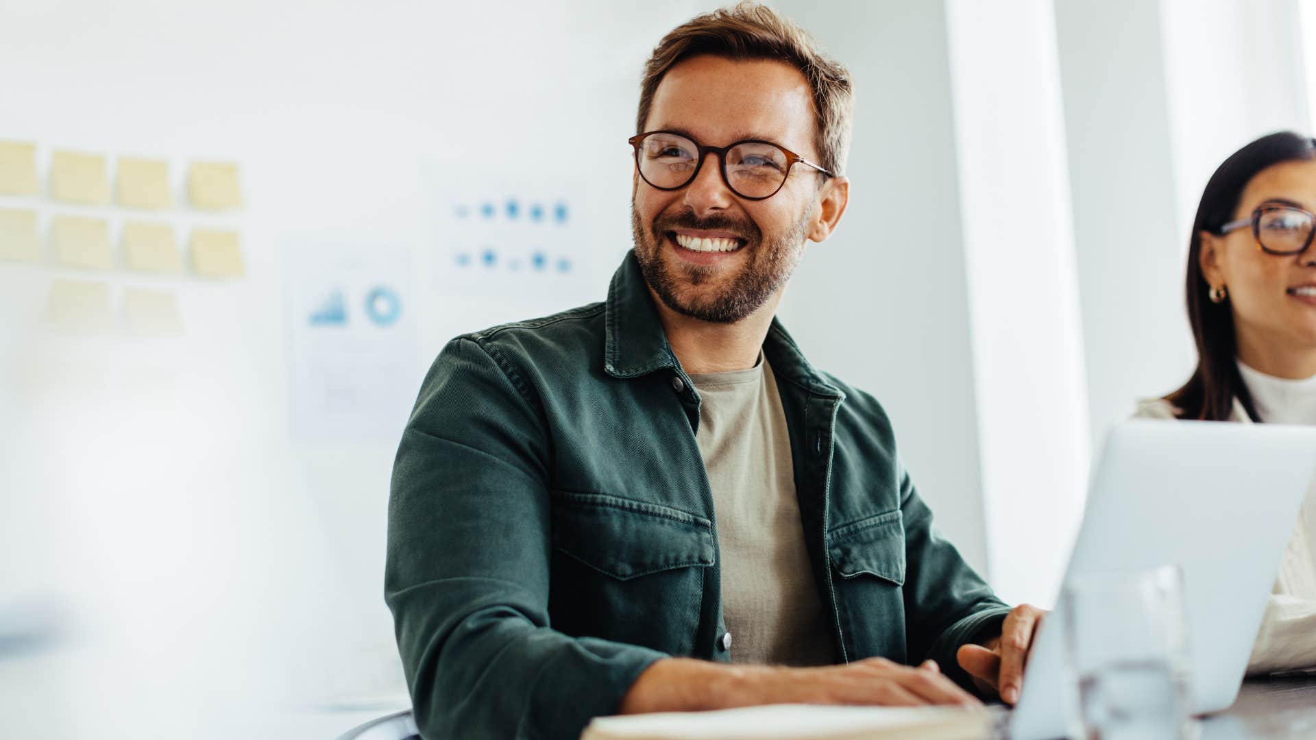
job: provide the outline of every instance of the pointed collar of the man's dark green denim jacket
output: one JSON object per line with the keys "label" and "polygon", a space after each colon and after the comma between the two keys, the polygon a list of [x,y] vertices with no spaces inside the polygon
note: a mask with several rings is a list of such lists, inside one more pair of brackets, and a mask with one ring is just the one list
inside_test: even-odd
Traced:
{"label": "pointed collar of the man's dark green denim jacket", "polygon": [[[607,336],[603,369],[609,375],[638,378],[655,370],[680,367],[676,354],[667,344],[658,308],[633,249],[612,275],[604,316]],[[763,340],[763,354],[778,378],[786,378],[817,395],[845,398],[841,388],[809,365],[776,317]]]}

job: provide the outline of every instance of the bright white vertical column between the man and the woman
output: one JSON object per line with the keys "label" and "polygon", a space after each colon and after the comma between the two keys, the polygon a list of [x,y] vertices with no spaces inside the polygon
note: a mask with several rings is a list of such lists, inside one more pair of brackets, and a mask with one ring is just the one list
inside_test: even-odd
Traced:
{"label": "bright white vertical column between the man and the woman", "polygon": [[946,8],[992,586],[1049,606],[1088,457],[1054,13]]}

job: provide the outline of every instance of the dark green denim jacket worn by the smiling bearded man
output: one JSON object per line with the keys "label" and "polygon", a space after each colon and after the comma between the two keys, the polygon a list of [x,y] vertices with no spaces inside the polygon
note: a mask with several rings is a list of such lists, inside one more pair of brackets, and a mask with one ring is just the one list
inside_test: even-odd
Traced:
{"label": "dark green denim jacket worn by the smiling bearded man", "polygon": [[[763,341],[836,661],[936,660],[1008,608],[932,524],[876,400]],[[605,303],[458,337],[388,503],[384,593],[426,737],[575,739],[665,656],[726,661],[699,394],[634,254]]]}

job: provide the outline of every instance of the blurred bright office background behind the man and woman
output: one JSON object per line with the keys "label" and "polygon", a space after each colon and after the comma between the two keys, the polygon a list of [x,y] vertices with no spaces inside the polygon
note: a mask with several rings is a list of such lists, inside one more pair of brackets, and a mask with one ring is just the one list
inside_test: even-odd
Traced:
{"label": "blurred bright office background behind the man and woman", "polygon": [[[1050,606],[1103,436],[1192,367],[1202,187],[1313,128],[1316,3],[772,5],[858,90],[782,319]],[[604,298],[640,67],[715,7],[0,0],[0,735],[408,706],[382,574],[420,381]]]}

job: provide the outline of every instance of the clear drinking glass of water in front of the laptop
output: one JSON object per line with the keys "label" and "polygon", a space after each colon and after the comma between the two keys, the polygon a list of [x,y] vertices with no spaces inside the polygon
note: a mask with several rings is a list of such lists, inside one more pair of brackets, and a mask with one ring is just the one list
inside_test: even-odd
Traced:
{"label": "clear drinking glass of water in front of the laptop", "polygon": [[1086,740],[1196,737],[1178,566],[1074,578],[1061,610]]}

